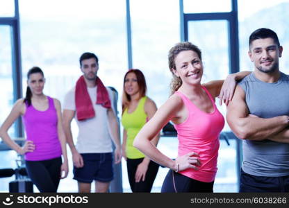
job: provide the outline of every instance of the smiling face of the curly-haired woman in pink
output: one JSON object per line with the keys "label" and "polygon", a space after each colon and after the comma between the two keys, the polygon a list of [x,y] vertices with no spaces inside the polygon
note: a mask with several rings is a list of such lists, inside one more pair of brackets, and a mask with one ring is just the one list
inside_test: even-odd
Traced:
{"label": "smiling face of the curly-haired woman in pink", "polygon": [[195,51],[181,51],[174,59],[176,69],[174,74],[181,78],[183,83],[198,85],[203,76],[203,64]]}

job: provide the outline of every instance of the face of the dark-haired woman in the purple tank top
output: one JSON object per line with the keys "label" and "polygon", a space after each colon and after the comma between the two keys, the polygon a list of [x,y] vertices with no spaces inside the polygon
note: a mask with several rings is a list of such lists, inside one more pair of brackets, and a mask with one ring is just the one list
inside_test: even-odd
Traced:
{"label": "face of the dark-haired woman in the purple tank top", "polygon": [[27,80],[27,85],[31,89],[32,94],[41,95],[43,94],[45,78],[41,73],[31,73]]}

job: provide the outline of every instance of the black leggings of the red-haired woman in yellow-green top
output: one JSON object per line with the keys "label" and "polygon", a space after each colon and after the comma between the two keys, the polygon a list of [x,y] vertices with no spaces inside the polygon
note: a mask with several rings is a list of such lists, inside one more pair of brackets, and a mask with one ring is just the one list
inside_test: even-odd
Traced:
{"label": "black leggings of the red-haired woman in yellow-green top", "polygon": [[138,168],[138,164],[142,162],[143,158],[140,159],[127,159],[127,173],[129,175],[129,184],[131,186],[131,191],[133,192],[151,192],[151,187],[153,187],[156,174],[158,173],[159,165],[154,161],[149,162],[149,167],[147,168],[147,173],[145,175],[145,181],[140,180],[140,182],[135,182],[135,173]]}

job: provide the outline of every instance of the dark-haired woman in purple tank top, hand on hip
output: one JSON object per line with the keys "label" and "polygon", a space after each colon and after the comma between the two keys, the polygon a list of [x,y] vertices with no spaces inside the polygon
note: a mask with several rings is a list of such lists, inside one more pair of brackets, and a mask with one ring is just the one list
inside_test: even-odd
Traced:
{"label": "dark-haired woman in purple tank top, hand on hip", "polygon": [[[26,97],[15,103],[1,126],[1,138],[19,155],[24,155],[28,176],[40,192],[56,192],[60,178],[68,173],[60,102],[43,94],[45,78],[39,67],[30,69],[27,79]],[[19,116],[26,132],[23,147],[8,135],[8,129]]]}

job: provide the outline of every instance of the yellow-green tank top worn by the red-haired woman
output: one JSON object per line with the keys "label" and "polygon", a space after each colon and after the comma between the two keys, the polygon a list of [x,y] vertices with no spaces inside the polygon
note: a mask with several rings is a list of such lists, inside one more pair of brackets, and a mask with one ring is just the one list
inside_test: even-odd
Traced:
{"label": "yellow-green tank top worn by the red-haired woman", "polygon": [[132,113],[124,110],[122,114],[122,125],[126,130],[126,157],[129,159],[139,159],[145,157],[144,154],[140,152],[137,148],[133,147],[133,140],[136,135],[147,122],[147,114],[145,113],[145,101],[147,101],[147,96],[140,98],[138,101],[138,106]]}

